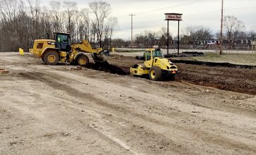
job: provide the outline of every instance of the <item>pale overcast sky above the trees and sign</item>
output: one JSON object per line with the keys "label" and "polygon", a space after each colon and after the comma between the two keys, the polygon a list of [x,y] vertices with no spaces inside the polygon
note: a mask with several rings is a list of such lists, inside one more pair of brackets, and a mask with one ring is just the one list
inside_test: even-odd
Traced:
{"label": "pale overcast sky above the trees and sign", "polygon": [[[50,0],[42,2],[49,4]],[[60,0],[62,1],[62,0]],[[63,0],[64,1],[64,0]],[[73,0],[79,8],[86,8],[92,1]],[[105,0],[111,5],[111,16],[118,18],[119,27],[114,38],[131,38],[131,16],[134,35],[144,30],[158,31],[167,27],[164,13],[182,13],[180,30],[187,26],[202,25],[212,32],[221,27],[221,0]],[[245,23],[246,30],[256,29],[256,0],[223,0],[224,16],[235,16]],[[170,33],[177,35],[178,22],[170,21]]]}

